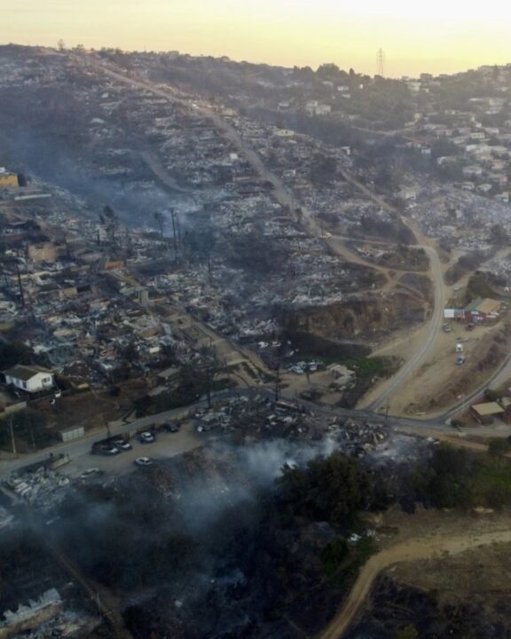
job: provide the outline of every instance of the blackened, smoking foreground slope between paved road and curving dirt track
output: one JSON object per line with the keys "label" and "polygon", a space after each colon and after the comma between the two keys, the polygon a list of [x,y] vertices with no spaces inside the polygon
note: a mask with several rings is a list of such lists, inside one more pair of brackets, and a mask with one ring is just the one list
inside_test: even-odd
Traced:
{"label": "blackened, smoking foreground slope between paved road and curving dirt track", "polygon": [[[341,451],[357,465],[345,477],[346,494],[363,473],[372,487],[358,504],[377,509],[405,494],[410,459],[426,457],[431,446],[339,417],[280,415],[276,422],[273,414],[269,432],[266,413],[259,407],[251,428],[231,422],[200,449],[129,475],[71,482],[62,500],[40,510],[42,533],[116,597],[134,637],[318,632],[350,588],[364,542],[377,542],[377,534],[350,515],[326,520],[321,509],[295,508],[283,493],[283,469]],[[339,539],[346,571],[332,575],[326,548]]]}

